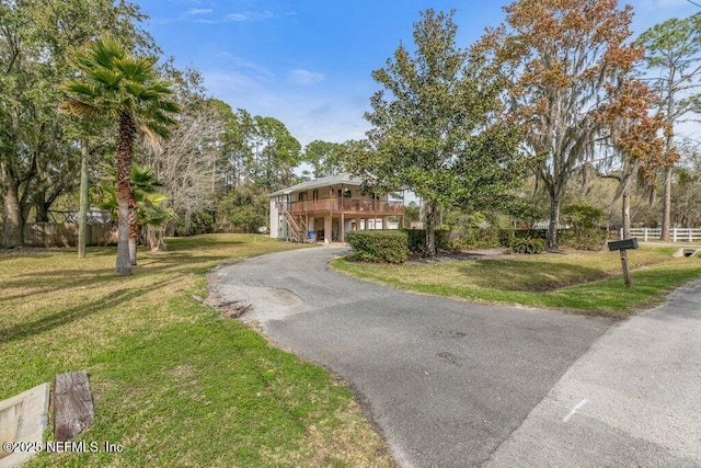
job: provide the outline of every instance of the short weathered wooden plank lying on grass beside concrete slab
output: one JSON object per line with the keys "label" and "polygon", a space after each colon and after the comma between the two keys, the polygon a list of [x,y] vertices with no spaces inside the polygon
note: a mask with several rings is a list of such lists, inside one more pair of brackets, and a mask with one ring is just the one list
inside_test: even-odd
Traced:
{"label": "short weathered wooden plank lying on grass beside concrete slab", "polygon": [[95,420],[88,373],[58,374],[54,383],[54,440],[72,440]]}

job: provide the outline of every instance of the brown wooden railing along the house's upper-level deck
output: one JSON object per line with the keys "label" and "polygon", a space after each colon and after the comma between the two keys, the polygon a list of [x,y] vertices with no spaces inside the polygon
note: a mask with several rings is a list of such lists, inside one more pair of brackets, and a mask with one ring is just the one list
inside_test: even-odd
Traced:
{"label": "brown wooden railing along the house's upper-level deck", "polygon": [[379,199],[319,198],[292,202],[289,212],[292,215],[344,213],[346,215],[403,216],[404,203]]}

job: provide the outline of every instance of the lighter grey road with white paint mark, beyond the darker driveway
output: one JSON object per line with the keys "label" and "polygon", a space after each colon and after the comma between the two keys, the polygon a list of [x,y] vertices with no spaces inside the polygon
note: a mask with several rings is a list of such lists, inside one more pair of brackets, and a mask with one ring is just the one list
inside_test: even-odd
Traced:
{"label": "lighter grey road with white paint mark, beyond the darker driveway", "polygon": [[701,467],[701,282],[609,330],[487,466]]}

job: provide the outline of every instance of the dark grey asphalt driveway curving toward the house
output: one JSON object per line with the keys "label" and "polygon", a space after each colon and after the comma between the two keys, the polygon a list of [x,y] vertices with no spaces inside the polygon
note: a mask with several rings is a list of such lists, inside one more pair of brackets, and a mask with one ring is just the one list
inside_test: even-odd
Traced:
{"label": "dark grey asphalt driveway curving toward the house", "polygon": [[350,383],[406,467],[487,460],[611,321],[415,295],[332,272],[346,248],[248,259],[212,294]]}

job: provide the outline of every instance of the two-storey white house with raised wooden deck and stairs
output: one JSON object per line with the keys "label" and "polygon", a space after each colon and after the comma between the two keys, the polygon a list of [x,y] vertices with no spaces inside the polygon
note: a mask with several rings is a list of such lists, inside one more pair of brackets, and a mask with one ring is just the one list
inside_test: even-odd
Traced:
{"label": "two-storey white house with raised wooden deck and stairs", "polygon": [[404,203],[363,193],[361,185],[360,180],[340,174],[271,193],[271,237],[343,242],[352,230],[397,229],[397,218],[404,217]]}

